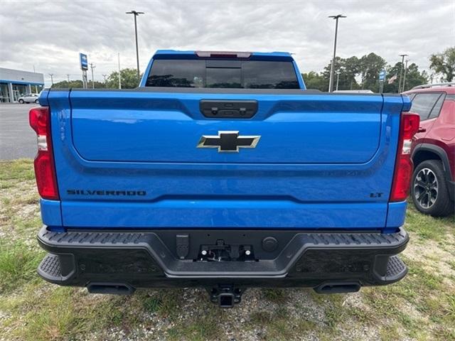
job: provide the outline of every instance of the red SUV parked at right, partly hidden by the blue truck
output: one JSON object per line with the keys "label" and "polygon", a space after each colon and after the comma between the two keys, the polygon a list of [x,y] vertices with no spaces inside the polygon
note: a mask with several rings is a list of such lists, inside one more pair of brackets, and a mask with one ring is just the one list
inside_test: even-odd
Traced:
{"label": "red SUV parked at right, partly hidden by the blue truck", "polygon": [[455,194],[455,82],[420,85],[404,94],[421,122],[412,141],[412,201],[422,213],[450,215]]}

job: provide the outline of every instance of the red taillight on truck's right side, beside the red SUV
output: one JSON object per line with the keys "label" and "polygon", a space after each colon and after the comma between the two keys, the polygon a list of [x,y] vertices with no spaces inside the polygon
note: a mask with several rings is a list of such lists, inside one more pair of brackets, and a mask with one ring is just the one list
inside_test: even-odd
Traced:
{"label": "red taillight on truck's right side, beside the red SUV", "polygon": [[411,143],[412,136],[419,130],[419,123],[420,117],[418,114],[402,112],[390,201],[406,200],[407,195],[409,195],[413,168],[411,160]]}

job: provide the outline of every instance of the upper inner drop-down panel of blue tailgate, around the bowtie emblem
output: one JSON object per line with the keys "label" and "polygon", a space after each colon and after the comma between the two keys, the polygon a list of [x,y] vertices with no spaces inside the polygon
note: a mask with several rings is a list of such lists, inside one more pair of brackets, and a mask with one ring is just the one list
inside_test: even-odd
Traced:
{"label": "upper inner drop-down panel of blue tailgate, around the bowtie emblem", "polygon": [[[204,99],[254,100],[251,119],[213,119]],[[73,144],[87,161],[365,163],[378,151],[382,96],[73,91]],[[260,136],[254,149],[216,153],[200,136]]]}

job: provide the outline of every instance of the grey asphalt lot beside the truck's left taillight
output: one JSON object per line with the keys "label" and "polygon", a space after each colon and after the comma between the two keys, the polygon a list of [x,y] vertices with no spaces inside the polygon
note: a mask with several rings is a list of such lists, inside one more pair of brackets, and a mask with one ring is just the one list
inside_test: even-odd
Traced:
{"label": "grey asphalt lot beside the truck's left taillight", "polygon": [[36,105],[0,103],[0,160],[35,157],[36,134],[28,125],[28,110]]}

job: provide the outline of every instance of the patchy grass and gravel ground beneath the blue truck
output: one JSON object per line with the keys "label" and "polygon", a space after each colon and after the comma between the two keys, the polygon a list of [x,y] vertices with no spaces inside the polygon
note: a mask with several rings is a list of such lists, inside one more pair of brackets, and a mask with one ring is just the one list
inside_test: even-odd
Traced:
{"label": "patchy grass and gravel ground beneath the blue truck", "polygon": [[455,340],[455,221],[410,205],[407,277],[321,296],[249,289],[221,310],[202,289],[88,295],[42,281],[30,160],[0,162],[0,340]]}

